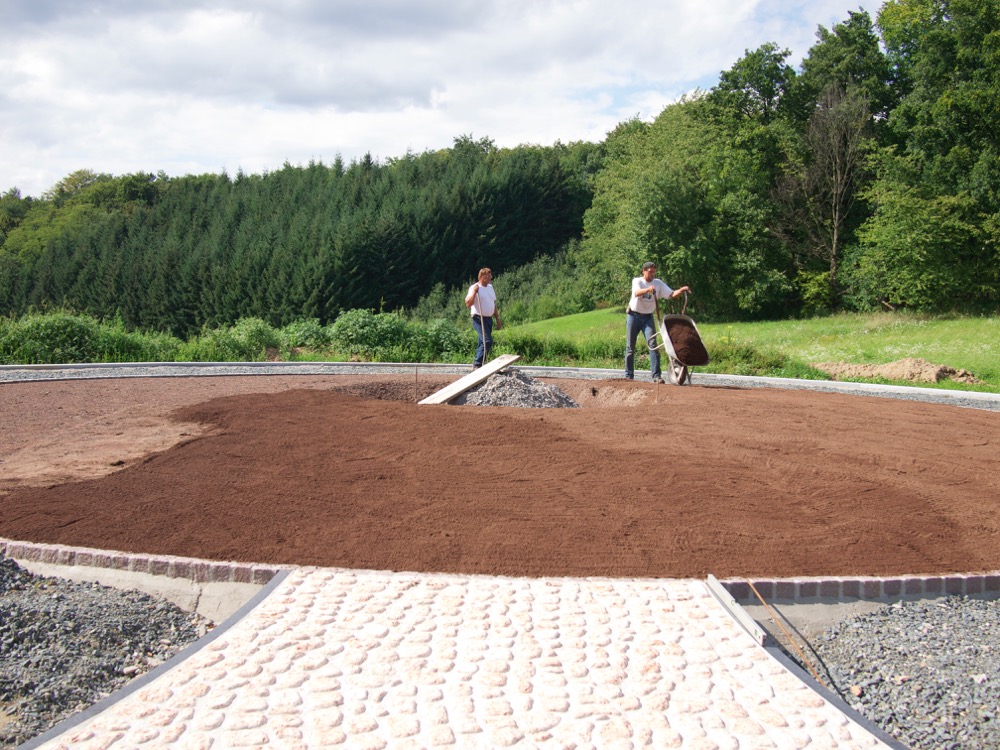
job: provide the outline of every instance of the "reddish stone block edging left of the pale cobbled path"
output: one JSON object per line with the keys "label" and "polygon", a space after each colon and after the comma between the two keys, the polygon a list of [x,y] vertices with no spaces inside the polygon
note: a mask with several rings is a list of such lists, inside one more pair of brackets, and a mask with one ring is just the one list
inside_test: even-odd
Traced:
{"label": "reddish stone block edging left of the pale cobbled path", "polygon": [[250,583],[266,585],[290,565],[216,562],[173,555],[144,555],[112,552],[88,547],[64,547],[57,544],[18,542],[0,538],[0,554],[50,565],[87,566],[148,573],[167,578],[182,578],[194,583]]}

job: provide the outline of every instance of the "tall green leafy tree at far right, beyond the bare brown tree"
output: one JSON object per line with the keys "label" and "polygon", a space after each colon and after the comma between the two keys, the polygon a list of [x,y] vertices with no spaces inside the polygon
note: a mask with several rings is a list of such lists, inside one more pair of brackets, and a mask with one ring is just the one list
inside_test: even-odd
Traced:
{"label": "tall green leafy tree at far right, beyond the bare brown tree", "polygon": [[996,305],[1000,0],[890,0],[878,23],[903,96],[862,232],[861,301]]}

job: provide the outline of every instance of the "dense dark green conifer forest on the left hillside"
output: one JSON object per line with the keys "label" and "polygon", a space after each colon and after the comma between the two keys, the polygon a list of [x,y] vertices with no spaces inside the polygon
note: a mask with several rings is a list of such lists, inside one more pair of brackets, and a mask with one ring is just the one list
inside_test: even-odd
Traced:
{"label": "dense dark green conifer forest on the left hillside", "polygon": [[[483,265],[498,272],[577,237],[601,150],[450,150],[235,179],[74,173],[0,206],[0,313],[60,304],[191,335],[413,305]],[[434,316],[431,316],[434,317]]]}

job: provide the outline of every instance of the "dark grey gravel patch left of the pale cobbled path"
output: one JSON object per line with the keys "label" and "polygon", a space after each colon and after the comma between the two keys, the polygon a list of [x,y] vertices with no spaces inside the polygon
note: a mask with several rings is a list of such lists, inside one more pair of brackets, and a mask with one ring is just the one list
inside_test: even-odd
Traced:
{"label": "dark grey gravel patch left of the pale cobbled path", "polygon": [[35,576],[0,555],[0,747],[96,703],[209,625],[148,594]]}

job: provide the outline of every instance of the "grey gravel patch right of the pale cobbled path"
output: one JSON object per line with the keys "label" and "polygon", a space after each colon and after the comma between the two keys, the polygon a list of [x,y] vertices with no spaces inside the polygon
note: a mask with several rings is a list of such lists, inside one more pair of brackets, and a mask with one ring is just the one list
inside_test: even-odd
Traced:
{"label": "grey gravel patch right of the pale cobbled path", "polygon": [[1000,748],[1000,600],[887,605],[814,648],[841,697],[914,750]]}

